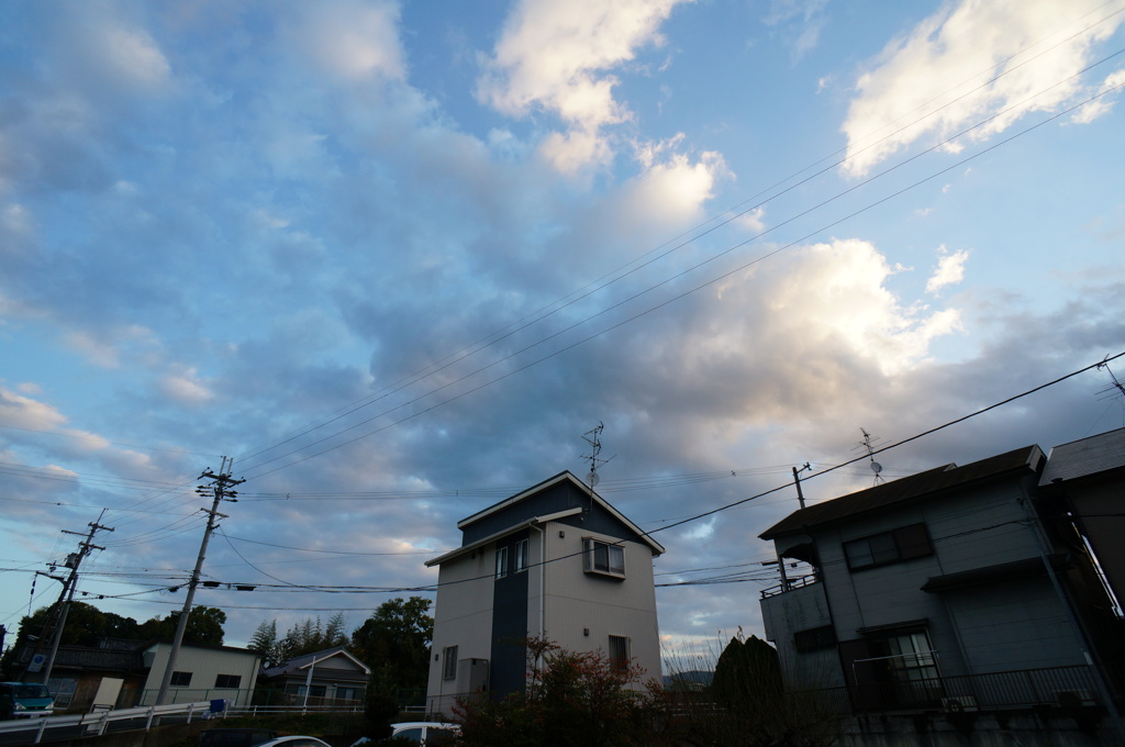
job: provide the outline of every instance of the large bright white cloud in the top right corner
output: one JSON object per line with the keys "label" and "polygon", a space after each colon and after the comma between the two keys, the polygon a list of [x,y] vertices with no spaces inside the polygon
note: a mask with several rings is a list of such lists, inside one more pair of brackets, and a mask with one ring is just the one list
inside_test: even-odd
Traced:
{"label": "large bright white cloud in the top right corner", "polygon": [[[1073,2],[1063,14],[1054,0],[963,0],[926,18],[860,76],[843,125],[844,172],[863,176],[918,140],[944,140],[994,116],[970,135],[986,140],[1029,111],[1073,101],[1095,44],[1123,22],[1113,14],[1120,0],[1092,14],[1099,4]],[[1078,33],[1100,17],[1108,18]]]}

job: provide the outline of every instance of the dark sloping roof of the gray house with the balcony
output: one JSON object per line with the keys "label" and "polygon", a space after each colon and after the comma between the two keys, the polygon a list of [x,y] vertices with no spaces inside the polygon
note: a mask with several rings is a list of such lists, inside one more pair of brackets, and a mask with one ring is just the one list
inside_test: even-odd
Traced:
{"label": "dark sloping roof of the gray house with the balcony", "polygon": [[972,484],[993,480],[1005,475],[1032,474],[1038,469],[1043,459],[1043,451],[1037,446],[1029,446],[981,459],[964,467],[945,465],[801,508],[758,537],[770,540],[782,534],[803,531],[806,528],[853,519],[907,501],[937,497],[950,490],[964,489]]}

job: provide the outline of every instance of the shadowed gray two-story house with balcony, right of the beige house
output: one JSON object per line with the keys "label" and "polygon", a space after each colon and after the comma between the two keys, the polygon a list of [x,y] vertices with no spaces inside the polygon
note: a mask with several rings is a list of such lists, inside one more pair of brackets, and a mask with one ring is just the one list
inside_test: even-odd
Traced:
{"label": "shadowed gray two-story house with balcony, right of the beige house", "polygon": [[1032,446],[945,465],[766,530],[807,570],[762,598],[789,686],[836,687],[853,713],[1097,700],[1087,622],[1108,601],[1082,544],[1040,518],[1045,464]]}

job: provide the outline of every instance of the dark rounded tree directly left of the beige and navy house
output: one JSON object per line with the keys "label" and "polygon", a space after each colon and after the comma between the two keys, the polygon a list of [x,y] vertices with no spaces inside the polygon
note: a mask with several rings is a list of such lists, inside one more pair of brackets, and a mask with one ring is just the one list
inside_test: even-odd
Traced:
{"label": "dark rounded tree directly left of the beige and navy house", "polygon": [[371,667],[369,692],[425,687],[433,618],[424,596],[384,602],[352,632],[352,654]]}

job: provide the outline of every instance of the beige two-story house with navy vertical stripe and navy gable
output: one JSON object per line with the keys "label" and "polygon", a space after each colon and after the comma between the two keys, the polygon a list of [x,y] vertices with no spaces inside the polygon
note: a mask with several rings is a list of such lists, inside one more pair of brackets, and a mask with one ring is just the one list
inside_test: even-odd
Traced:
{"label": "beige two-story house with navy vertical stripe and navy gable", "polygon": [[457,524],[438,566],[426,705],[526,684],[526,640],[602,651],[660,678],[652,560],[664,548],[569,471]]}

